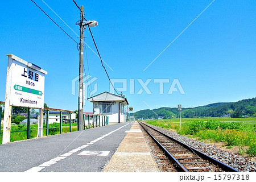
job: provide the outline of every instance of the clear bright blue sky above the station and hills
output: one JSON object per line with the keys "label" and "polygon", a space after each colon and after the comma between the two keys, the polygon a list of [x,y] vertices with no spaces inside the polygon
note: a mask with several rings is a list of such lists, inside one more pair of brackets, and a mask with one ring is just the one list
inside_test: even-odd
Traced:
{"label": "clear bright blue sky above the station and hills", "polygon": [[[41,0],[36,3],[72,38],[79,41],[79,9],[72,0],[44,0],[76,34]],[[256,96],[256,1],[216,0],[148,67],[212,1],[76,1],[85,6],[91,28],[110,78],[127,79],[123,92],[134,110],[167,106],[195,107],[213,102],[238,101]],[[48,72],[44,102],[49,107],[77,109],[72,79],[79,75],[77,45],[30,0],[1,1],[0,6],[0,101],[5,100],[7,56],[12,53]],[[89,30],[85,42],[96,51]],[[109,91],[100,59],[86,48],[90,75],[97,77],[97,93]],[[85,56],[85,70],[88,66]],[[159,94],[154,79],[170,79]],[[185,94],[167,94],[174,78]],[[130,94],[135,79],[135,94]],[[152,94],[137,94],[152,79]],[[92,85],[93,87],[94,85]],[[115,84],[119,87],[121,84]],[[94,95],[95,95],[94,94]],[[89,97],[89,95],[88,95]],[[144,102],[148,104],[144,104]],[[85,111],[92,104],[85,103]]]}

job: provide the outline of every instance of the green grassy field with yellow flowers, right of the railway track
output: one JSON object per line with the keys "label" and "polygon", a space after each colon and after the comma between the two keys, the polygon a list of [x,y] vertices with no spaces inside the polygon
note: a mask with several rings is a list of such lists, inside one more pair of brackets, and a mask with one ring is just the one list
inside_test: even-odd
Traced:
{"label": "green grassy field with yellow flowers, right of the railway track", "polygon": [[[146,120],[151,125],[172,129],[181,135],[211,142],[224,142],[228,148],[241,147],[241,154],[256,156],[256,118],[179,118]],[[243,150],[246,147],[246,150]]]}

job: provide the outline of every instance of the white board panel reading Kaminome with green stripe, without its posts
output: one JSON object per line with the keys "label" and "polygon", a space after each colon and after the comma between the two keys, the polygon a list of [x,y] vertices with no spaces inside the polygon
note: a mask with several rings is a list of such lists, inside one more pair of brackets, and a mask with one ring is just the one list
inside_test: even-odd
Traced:
{"label": "white board panel reading Kaminome with green stripe, without its posts", "polygon": [[[36,66],[22,60],[12,60],[10,65],[10,105],[22,107],[44,107],[44,73]],[[35,69],[28,67],[32,65]],[[39,69],[39,67],[38,67]],[[39,69],[40,70],[40,69]],[[45,72],[45,71],[44,71]]]}

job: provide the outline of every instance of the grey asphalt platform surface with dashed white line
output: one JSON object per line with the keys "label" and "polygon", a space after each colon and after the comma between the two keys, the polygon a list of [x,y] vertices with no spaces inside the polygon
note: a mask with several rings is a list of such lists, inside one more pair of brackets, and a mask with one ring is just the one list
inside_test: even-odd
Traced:
{"label": "grey asphalt platform surface with dashed white line", "polygon": [[130,128],[130,122],[116,123],[1,144],[0,172],[101,172]]}

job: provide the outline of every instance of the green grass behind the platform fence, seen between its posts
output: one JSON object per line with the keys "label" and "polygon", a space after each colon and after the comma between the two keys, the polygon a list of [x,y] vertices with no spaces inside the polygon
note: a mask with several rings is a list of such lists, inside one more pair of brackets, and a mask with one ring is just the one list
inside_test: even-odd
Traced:
{"label": "green grass behind the platform fence, seen between its posts", "polygon": [[[60,124],[59,123],[53,123],[49,124],[49,135],[56,135],[60,134]],[[69,123],[62,125],[62,133],[68,133],[69,132]],[[43,125],[43,136],[46,136],[46,125]],[[53,129],[50,129],[51,127],[55,127]],[[26,125],[11,125],[11,131],[19,131],[15,133],[11,133],[10,141],[18,141],[18,140],[25,140],[27,139],[27,126]],[[77,131],[77,123],[72,123],[72,131]],[[3,132],[3,125],[1,126],[1,132]],[[38,134],[38,125],[31,125],[30,126],[30,138],[35,138]],[[3,134],[0,134],[0,144],[2,144],[2,137]]]}

